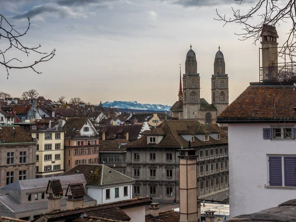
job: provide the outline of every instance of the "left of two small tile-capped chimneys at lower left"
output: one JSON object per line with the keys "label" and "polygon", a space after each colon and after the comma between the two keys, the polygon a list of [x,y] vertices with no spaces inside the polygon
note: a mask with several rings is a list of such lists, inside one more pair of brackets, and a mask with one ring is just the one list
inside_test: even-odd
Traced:
{"label": "left of two small tile-capped chimneys at lower left", "polygon": [[63,189],[60,180],[48,181],[46,188],[48,194],[48,212],[61,209],[61,198],[63,197]]}

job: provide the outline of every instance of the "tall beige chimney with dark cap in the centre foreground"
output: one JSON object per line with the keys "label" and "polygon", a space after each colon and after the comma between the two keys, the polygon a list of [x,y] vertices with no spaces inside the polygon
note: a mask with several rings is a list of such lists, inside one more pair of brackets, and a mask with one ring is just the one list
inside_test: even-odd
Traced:
{"label": "tall beige chimney with dark cap in the centre foreground", "polygon": [[200,221],[200,201],[197,192],[197,149],[183,147],[180,151],[180,222]]}

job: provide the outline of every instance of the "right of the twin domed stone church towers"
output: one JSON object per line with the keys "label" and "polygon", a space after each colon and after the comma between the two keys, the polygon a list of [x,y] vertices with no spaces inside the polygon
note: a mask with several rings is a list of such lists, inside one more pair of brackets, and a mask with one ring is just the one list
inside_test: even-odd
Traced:
{"label": "right of the twin domed stone church towers", "polygon": [[220,46],[215,56],[212,75],[212,104],[216,107],[218,115],[229,105],[228,74],[225,74],[225,61]]}

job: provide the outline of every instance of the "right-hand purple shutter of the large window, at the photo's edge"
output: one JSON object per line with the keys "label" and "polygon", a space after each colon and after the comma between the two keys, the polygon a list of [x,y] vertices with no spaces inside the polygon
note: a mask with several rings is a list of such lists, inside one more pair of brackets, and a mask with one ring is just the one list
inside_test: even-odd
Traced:
{"label": "right-hand purple shutter of the large window, at the photo's edge", "polygon": [[284,157],[285,167],[285,186],[296,186],[296,157],[285,156]]}

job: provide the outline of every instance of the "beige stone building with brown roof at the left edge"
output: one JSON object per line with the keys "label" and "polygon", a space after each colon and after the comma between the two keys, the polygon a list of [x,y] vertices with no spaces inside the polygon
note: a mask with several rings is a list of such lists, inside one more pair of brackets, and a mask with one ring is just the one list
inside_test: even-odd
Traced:
{"label": "beige stone building with brown roof at the left edge", "polygon": [[20,126],[0,125],[0,186],[35,178],[36,144]]}

